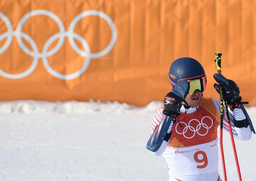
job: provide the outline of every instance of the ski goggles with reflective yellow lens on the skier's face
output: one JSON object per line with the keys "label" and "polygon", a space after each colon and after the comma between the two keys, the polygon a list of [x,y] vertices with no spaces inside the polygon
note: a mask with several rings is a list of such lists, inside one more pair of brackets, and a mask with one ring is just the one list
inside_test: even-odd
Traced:
{"label": "ski goggles with reflective yellow lens on the skier's face", "polygon": [[189,85],[189,91],[188,94],[192,95],[194,94],[195,91],[200,91],[203,92],[205,90],[206,87],[206,76],[197,78],[197,79],[192,79],[192,80],[186,80]]}

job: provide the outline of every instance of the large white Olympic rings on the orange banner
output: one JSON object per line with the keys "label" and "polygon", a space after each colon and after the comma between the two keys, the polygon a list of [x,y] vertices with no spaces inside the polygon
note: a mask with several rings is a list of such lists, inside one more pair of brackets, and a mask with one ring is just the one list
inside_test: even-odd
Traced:
{"label": "large white Olympic rings on the orange banner", "polygon": [[[38,47],[37,47],[35,41],[28,34],[21,32],[24,23],[29,18],[36,16],[36,15],[44,15],[44,16],[48,16],[48,17],[52,18],[57,23],[57,25],[59,26],[59,30],[60,30],[59,33],[52,35],[45,42],[43,51],[41,53],[38,51]],[[82,36],[74,33],[74,29],[75,29],[77,22],[86,16],[98,16],[100,18],[103,18],[108,23],[108,25],[111,29],[111,39],[108,43],[108,46],[98,53],[91,53],[91,49],[90,49],[87,41],[84,40],[84,38]],[[116,26],[115,26],[114,22],[112,21],[112,19],[109,18],[108,15],[106,15],[105,13],[103,13],[101,11],[89,10],[89,11],[81,12],[71,21],[68,31],[65,31],[65,28],[64,28],[64,25],[63,25],[61,19],[57,15],[52,13],[51,11],[47,11],[47,10],[34,10],[34,11],[30,11],[27,14],[25,14],[20,19],[20,21],[17,25],[16,31],[13,31],[10,20],[1,12],[0,12],[0,19],[2,19],[4,21],[4,23],[7,27],[7,32],[0,35],[0,41],[2,41],[4,38],[7,38],[3,47],[0,47],[0,54],[2,54],[10,46],[10,44],[12,42],[12,37],[16,36],[18,45],[20,46],[22,51],[34,58],[30,67],[22,73],[10,74],[10,73],[4,72],[0,68],[0,75],[5,78],[9,78],[9,79],[20,79],[20,78],[26,77],[29,74],[31,74],[34,71],[34,69],[36,68],[39,58],[41,58],[43,60],[45,69],[52,76],[62,79],[62,80],[70,80],[70,79],[77,78],[85,72],[85,70],[88,68],[88,66],[90,64],[90,60],[92,58],[100,58],[100,57],[108,54],[108,52],[114,47],[114,45],[116,43],[116,36],[117,36]],[[60,48],[62,47],[62,45],[64,43],[65,37],[68,37],[69,43],[70,43],[71,47],[74,49],[74,51],[77,54],[81,55],[82,57],[86,58],[83,66],[78,71],[76,71],[75,73],[72,73],[72,74],[68,74],[68,75],[60,74],[60,73],[56,72],[55,70],[52,69],[52,67],[48,63],[48,57],[54,55],[55,53],[57,53],[60,50]],[[22,38],[28,41],[28,43],[32,47],[32,51],[28,47],[26,47],[26,45],[23,43]],[[53,47],[52,50],[48,51],[52,42],[57,39],[59,39],[57,45],[55,47]],[[82,44],[85,51],[81,50],[76,45],[74,39],[78,40]]]}

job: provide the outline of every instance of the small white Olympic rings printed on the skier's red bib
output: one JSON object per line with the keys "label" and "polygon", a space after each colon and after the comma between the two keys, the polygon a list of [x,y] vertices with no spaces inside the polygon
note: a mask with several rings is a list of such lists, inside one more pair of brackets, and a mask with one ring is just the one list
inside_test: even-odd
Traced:
{"label": "small white Olympic rings printed on the skier's red bib", "polygon": [[[203,123],[203,120],[204,120],[205,118],[209,118],[209,119],[211,120],[212,124],[211,124],[210,127],[208,127],[205,123]],[[196,128],[190,126],[190,123],[191,123],[192,121],[197,121],[197,122],[198,122],[198,125],[196,126]],[[204,116],[204,117],[202,118],[201,122],[200,122],[199,120],[197,120],[197,119],[191,119],[191,120],[188,122],[188,125],[187,125],[185,122],[181,122],[181,121],[180,121],[180,123],[185,124],[186,127],[184,127],[184,128],[182,127],[182,128],[183,128],[183,131],[182,131],[182,133],[180,133],[179,131],[177,131],[177,126],[179,126],[179,124],[177,124],[176,127],[175,127],[176,132],[177,132],[178,134],[183,134],[183,136],[184,136],[185,138],[190,139],[190,138],[193,138],[193,137],[196,135],[196,133],[197,133],[198,135],[200,135],[200,136],[206,135],[206,134],[208,133],[208,130],[209,130],[209,129],[212,127],[212,125],[213,125],[213,120],[212,120],[212,118],[210,118],[209,116]],[[205,134],[200,134],[200,133],[198,133],[198,131],[201,129],[201,126],[203,127],[202,129],[204,129],[204,128],[206,129],[206,133],[205,133]],[[190,137],[188,137],[188,136],[185,135],[189,130],[194,133],[194,134],[193,134],[192,136],[190,136]]]}

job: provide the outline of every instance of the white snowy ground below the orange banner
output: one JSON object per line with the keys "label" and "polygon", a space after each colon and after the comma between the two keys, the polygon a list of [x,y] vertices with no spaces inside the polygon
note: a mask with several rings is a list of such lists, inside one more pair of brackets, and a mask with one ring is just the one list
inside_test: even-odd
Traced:
{"label": "white snowy ground below the orange banner", "polygon": [[[0,181],[167,181],[163,156],[145,148],[160,106],[0,102]],[[256,108],[247,110],[254,121]],[[236,181],[229,134],[223,135],[228,180]],[[236,140],[244,181],[256,180],[255,140]]]}

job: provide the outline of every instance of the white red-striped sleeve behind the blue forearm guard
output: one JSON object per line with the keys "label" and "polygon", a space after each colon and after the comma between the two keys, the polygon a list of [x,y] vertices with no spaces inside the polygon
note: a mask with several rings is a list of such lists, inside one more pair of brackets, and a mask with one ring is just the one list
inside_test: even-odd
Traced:
{"label": "white red-striped sleeve behind the blue forearm guard", "polygon": [[[155,131],[155,129],[157,128],[157,126],[159,125],[159,123],[162,121],[164,115],[163,115],[163,108],[160,108],[160,109],[157,109],[155,111],[155,114],[152,118],[152,121],[151,121],[151,134]],[[170,133],[171,130],[172,130],[172,125],[173,125],[173,122],[171,123],[170,127],[168,128],[168,132],[167,133]],[[170,140],[170,139],[169,139]],[[164,153],[166,147],[168,146],[169,144],[169,140],[168,141],[163,141],[160,148],[156,151],[156,152],[152,152],[150,151],[154,156],[160,156]]]}

